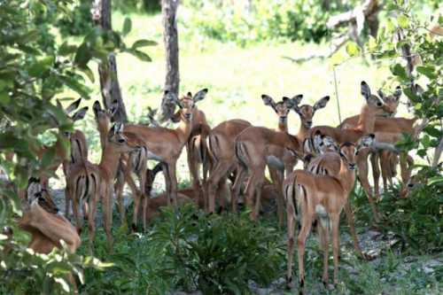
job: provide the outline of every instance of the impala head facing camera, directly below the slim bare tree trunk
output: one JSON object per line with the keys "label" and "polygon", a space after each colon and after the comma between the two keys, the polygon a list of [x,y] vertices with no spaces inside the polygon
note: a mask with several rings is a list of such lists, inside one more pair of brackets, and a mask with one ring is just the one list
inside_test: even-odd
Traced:
{"label": "impala head facing camera, directly below the slim bare tree trunk", "polygon": [[[175,93],[166,90],[165,96],[163,97],[161,107],[165,117],[172,116],[171,106],[177,105],[180,108],[180,118],[185,122],[190,122],[192,120],[192,113],[196,108],[198,101],[203,100],[206,97],[207,89],[201,89],[194,96],[190,92],[181,99],[179,99]],[[174,106],[175,107],[175,106]]]}

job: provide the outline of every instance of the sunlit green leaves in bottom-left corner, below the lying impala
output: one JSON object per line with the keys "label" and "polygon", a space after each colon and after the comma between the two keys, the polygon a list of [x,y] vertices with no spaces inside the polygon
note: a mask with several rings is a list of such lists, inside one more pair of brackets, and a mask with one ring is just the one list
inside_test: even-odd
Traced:
{"label": "sunlit green leaves in bottom-left corner, below the lying impala", "polygon": [[98,271],[110,266],[93,257],[69,253],[63,242],[61,250],[56,248],[48,255],[36,254],[24,246],[29,241],[27,232],[13,225],[12,230],[12,237],[0,234],[1,294],[72,293],[71,274],[85,283],[83,268]]}

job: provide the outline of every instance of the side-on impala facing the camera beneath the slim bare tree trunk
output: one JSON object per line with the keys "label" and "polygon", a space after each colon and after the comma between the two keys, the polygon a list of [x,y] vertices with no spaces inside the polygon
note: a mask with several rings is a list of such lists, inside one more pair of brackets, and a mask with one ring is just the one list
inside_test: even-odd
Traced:
{"label": "side-on impala facing the camera beneath the slim bare tree trunk", "polygon": [[183,146],[189,140],[195,105],[206,97],[206,93],[207,89],[202,89],[194,97],[186,96],[179,99],[174,93],[165,91],[164,101],[168,104],[178,105],[182,110],[180,112],[181,123],[178,128],[149,128],[142,125],[127,125],[125,128],[125,132],[136,134],[143,141],[147,159],[154,159],[163,164],[168,204],[172,200],[174,206],[177,206],[177,175],[175,172],[177,159],[183,151]]}

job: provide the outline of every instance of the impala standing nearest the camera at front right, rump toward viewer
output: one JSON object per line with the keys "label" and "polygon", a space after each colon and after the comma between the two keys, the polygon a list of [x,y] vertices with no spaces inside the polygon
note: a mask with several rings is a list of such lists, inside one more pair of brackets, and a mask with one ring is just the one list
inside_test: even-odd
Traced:
{"label": "impala standing nearest the camera at front right, rump toward viewer", "polygon": [[339,147],[340,167],[337,175],[313,175],[304,170],[295,170],[284,180],[284,199],[288,218],[288,272],[286,282],[292,287],[292,252],[294,247],[295,221],[301,224],[297,238],[299,255],[299,287],[304,292],[304,253],[307,236],[313,221],[317,219],[323,256],[323,283],[328,282],[329,230],[332,229],[334,257],[334,283],[338,283],[339,216],[351,190],[354,188],[356,155],[369,147],[374,135],[361,136],[358,144],[344,143]]}

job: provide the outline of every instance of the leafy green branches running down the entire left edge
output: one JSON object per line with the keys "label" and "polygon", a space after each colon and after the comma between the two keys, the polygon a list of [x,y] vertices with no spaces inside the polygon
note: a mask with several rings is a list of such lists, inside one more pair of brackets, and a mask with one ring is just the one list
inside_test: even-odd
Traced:
{"label": "leafy green branches running down the entire left edge", "polygon": [[[64,251],[28,252],[29,239],[17,227],[21,215],[17,190],[55,162],[56,142],[69,153],[65,132],[73,129],[73,122],[56,98],[72,100],[63,96],[66,89],[88,98],[85,80],[94,79],[89,63],[106,61],[110,52],[132,53],[119,33],[99,28],[91,29],[80,44],[59,43],[53,28],[59,19],[72,17],[71,4],[71,0],[0,2],[0,166],[5,170],[0,180],[0,229],[13,229],[12,237],[0,236],[0,291],[6,293],[68,292],[68,272],[81,276],[82,268],[97,266],[97,260]],[[138,49],[142,45],[147,41],[138,41],[141,53],[135,55],[146,60],[149,57]],[[8,159],[9,153],[15,159]]]}

